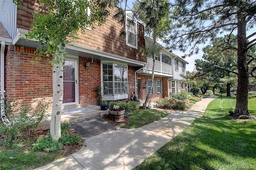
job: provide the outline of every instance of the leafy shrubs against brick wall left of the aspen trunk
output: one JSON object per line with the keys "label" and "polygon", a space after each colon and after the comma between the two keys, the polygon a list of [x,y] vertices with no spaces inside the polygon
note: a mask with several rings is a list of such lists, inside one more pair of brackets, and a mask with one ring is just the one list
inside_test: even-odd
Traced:
{"label": "leafy shrubs against brick wall left of the aspen trunk", "polygon": [[[17,142],[22,141],[26,136],[33,134],[42,119],[47,115],[49,102],[44,98],[34,99],[33,103],[25,105],[17,100],[4,100],[5,114],[7,115],[10,125],[6,126],[0,123],[0,134],[4,135],[2,145],[14,146]],[[33,104],[35,103],[35,106]],[[37,103],[37,104],[36,104]]]}

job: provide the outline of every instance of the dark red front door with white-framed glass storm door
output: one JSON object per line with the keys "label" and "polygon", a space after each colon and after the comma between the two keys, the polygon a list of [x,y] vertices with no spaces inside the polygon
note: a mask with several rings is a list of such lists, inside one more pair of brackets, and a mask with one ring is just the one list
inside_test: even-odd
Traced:
{"label": "dark red front door with white-framed glass storm door", "polygon": [[66,59],[63,66],[63,101],[62,105],[78,104],[77,59]]}

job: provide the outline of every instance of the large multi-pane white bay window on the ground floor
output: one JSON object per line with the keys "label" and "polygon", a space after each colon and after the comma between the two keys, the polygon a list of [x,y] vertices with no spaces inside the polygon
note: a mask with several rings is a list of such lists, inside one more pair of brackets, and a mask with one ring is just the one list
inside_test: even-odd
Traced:
{"label": "large multi-pane white bay window on the ground floor", "polygon": [[103,95],[124,95],[128,93],[128,66],[117,63],[103,63]]}

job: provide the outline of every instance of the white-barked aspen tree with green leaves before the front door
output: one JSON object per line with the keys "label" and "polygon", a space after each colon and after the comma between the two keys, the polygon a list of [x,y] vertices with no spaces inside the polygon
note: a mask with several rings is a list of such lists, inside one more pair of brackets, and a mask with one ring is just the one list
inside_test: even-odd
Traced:
{"label": "white-barked aspen tree with green leaves before the front door", "polygon": [[[14,0],[18,6],[22,0]],[[33,30],[26,35],[27,39],[36,39],[40,44],[38,57],[52,56],[54,85],[53,103],[50,122],[50,134],[58,140],[60,134],[61,107],[63,99],[63,64],[66,57],[66,44],[72,43],[78,30],[88,26],[103,24],[109,14],[106,2],[95,4],[90,0],[39,0],[46,12],[34,13]],[[87,10],[90,7],[90,15]]]}

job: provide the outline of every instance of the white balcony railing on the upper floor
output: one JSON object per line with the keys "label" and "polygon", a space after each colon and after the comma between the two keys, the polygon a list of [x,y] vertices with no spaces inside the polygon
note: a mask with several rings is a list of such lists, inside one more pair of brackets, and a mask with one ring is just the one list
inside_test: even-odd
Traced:
{"label": "white balcony railing on the upper floor", "polygon": [[[146,69],[152,71],[153,59],[147,57]],[[172,74],[172,65],[155,60],[155,72]]]}

